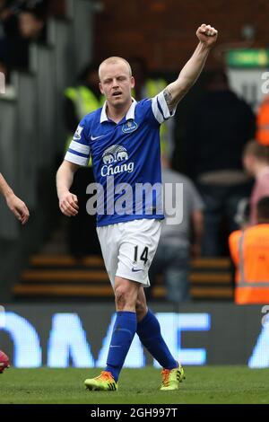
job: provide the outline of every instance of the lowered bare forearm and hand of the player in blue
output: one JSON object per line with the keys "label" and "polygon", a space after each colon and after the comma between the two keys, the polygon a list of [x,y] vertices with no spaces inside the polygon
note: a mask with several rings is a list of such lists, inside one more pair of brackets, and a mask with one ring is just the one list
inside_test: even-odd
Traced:
{"label": "lowered bare forearm and hand of the player in blue", "polygon": [[69,190],[74,180],[74,173],[79,167],[79,165],[69,163],[65,160],[60,165],[56,174],[56,189],[59,207],[62,213],[68,217],[77,215],[79,209],[76,195]]}

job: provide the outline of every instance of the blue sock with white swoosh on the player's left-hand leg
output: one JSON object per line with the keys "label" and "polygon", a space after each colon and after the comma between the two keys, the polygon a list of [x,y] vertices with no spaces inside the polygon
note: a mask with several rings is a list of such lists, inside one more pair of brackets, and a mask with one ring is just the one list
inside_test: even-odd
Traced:
{"label": "blue sock with white swoosh on the player's left-hand leg", "polygon": [[106,371],[109,371],[117,382],[126,355],[136,331],[136,313],[118,311],[108,351]]}

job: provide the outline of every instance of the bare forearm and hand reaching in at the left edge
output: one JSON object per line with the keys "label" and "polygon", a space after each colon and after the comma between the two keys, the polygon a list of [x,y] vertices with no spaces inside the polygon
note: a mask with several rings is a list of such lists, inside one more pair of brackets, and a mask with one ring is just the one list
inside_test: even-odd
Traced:
{"label": "bare forearm and hand reaching in at the left edge", "polygon": [[4,176],[1,173],[0,193],[4,195],[6,204],[13,212],[13,215],[15,215],[22,224],[27,223],[30,216],[28,208],[26,207],[22,199],[18,198],[14,194],[13,189],[11,189],[11,187],[7,184],[7,182],[4,180]]}

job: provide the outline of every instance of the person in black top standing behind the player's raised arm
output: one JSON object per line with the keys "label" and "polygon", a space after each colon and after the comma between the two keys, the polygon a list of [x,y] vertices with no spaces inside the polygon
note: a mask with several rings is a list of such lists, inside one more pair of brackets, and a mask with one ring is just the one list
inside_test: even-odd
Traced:
{"label": "person in black top standing behind the player's raised arm", "polygon": [[202,253],[221,255],[221,221],[229,232],[234,216],[251,185],[242,169],[242,152],[254,136],[256,118],[247,103],[230,91],[222,71],[209,73],[206,92],[193,110],[187,126],[187,173],[195,178],[205,204]]}

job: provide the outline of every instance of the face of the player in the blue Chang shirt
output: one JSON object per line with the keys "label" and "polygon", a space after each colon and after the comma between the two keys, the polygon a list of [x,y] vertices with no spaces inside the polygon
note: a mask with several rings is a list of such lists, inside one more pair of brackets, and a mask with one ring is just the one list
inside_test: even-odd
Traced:
{"label": "face of the player in the blue Chang shirt", "polygon": [[100,69],[100,92],[108,104],[113,107],[122,107],[131,99],[131,90],[134,88],[134,77],[130,76],[129,69],[124,62],[113,65],[104,65]]}

